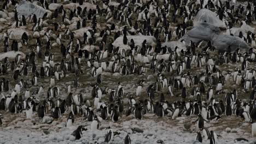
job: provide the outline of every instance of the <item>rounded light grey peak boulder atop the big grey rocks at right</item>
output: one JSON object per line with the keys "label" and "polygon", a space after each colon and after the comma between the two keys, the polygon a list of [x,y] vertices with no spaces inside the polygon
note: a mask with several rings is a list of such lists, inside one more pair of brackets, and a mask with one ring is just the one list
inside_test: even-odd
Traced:
{"label": "rounded light grey peak boulder atop the big grey rocks at right", "polygon": [[216,13],[214,13],[213,11],[211,10],[208,10],[208,9],[201,9],[198,11],[194,21],[193,21],[193,24],[194,26],[196,25],[199,25],[201,22],[207,22],[207,23],[210,23],[216,27],[226,27],[224,24],[223,24],[223,21],[221,21],[219,19],[219,17],[217,16]]}

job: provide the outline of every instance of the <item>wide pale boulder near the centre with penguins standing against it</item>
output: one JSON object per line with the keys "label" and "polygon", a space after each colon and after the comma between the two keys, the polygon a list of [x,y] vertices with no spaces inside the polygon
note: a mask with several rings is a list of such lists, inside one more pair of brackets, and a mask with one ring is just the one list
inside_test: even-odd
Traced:
{"label": "wide pale boulder near the centre with penguins standing against it", "polygon": [[[120,47],[120,49],[125,49],[125,50],[129,50],[130,46],[129,43],[131,41],[131,39],[133,39],[135,46],[142,46],[142,43],[144,40],[147,40],[147,45],[152,45],[153,47],[155,47],[156,45],[156,39],[153,36],[146,36],[146,35],[127,35],[127,40],[128,40],[128,44],[124,45],[123,43],[123,36],[118,37],[117,39],[115,39],[114,43],[112,43],[112,45],[114,47]],[[119,50],[120,50],[119,49]]]}

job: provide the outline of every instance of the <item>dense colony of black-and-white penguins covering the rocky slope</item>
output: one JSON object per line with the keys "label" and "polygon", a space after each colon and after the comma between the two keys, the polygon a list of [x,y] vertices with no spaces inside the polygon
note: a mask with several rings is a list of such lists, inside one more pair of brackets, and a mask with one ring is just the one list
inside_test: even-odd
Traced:
{"label": "dense colony of black-and-white penguins covering the rocky slope", "polygon": [[[244,23],[251,25],[256,19],[256,1],[235,7],[237,2],[234,0],[117,0],[118,6],[111,1],[94,0],[86,1],[96,5],[95,9],[88,9],[86,5],[82,7],[83,0],[31,0],[44,9],[49,9],[52,3],[60,4],[51,15],[45,13],[43,17],[19,15],[15,9],[19,2],[5,0],[1,3],[1,11],[14,12],[15,28],[24,28],[29,33],[44,29],[45,33],[32,38],[24,32],[21,39],[16,40],[13,31],[4,32],[2,52],[26,52],[25,57],[18,54],[14,59],[5,57],[1,62],[0,112],[4,115],[24,113],[27,119],[39,117],[41,122],[46,122],[45,118],[49,116],[55,120],[66,115],[66,127],[71,127],[75,118],[83,117],[91,122],[94,131],[100,128],[102,121],[119,122],[124,115],[133,115],[136,119],[143,119],[147,113],[169,119],[194,116],[197,117],[193,122],[197,127],[196,140],[207,143],[217,143],[218,136],[205,124],[234,115],[251,123],[248,127],[252,136],[256,136],[256,58],[253,48],[244,51],[237,47],[236,51],[231,51],[230,47],[223,47],[218,51],[211,41],[203,40],[190,41],[187,50],[181,51],[178,51],[179,47],[171,50],[161,46],[164,41],[178,40],[185,35],[202,8],[215,11],[228,29]],[[69,9],[63,6],[65,3],[77,5]],[[104,26],[101,26],[102,21]],[[71,24],[75,24],[73,30],[69,28]],[[74,31],[85,27],[89,29],[83,37],[75,38]],[[153,46],[144,40],[136,45],[136,39],[128,39],[129,35],[150,35],[157,42]],[[130,50],[112,45],[120,36]],[[254,33],[248,31],[243,35],[240,32],[239,37],[255,46]],[[86,46],[90,49],[84,49]],[[166,54],[167,60],[158,58]],[[153,56],[150,61],[149,56]],[[138,62],[135,57],[145,61]],[[227,65],[237,67],[226,72]],[[131,76],[149,74],[153,77],[133,84],[132,92],[125,92],[121,77],[114,87],[104,83],[114,75],[127,75],[130,79]],[[86,76],[94,79],[91,91],[78,93],[77,89],[88,83]],[[46,79],[49,81],[43,85]],[[61,83],[71,80],[72,84],[60,88]],[[234,88],[227,88],[227,85]],[[86,99],[85,93],[90,93],[91,97]],[[128,104],[123,103],[124,99],[128,99]],[[4,115],[0,114],[0,125],[4,124]],[[79,140],[84,130],[87,129],[79,125],[71,135]],[[113,141],[115,135],[118,134],[107,128],[104,142]],[[124,143],[131,141],[132,137],[127,133]],[[157,142],[164,143],[162,140]]]}

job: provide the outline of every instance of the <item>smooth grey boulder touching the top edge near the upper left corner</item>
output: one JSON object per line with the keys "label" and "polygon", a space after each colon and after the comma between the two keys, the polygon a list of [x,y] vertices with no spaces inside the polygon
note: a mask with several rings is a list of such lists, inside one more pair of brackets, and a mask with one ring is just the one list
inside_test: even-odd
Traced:
{"label": "smooth grey boulder touching the top edge near the upper left corner", "polygon": [[31,2],[27,2],[25,0],[21,1],[20,4],[16,8],[18,15],[24,15],[25,17],[30,16],[31,14],[35,14],[37,19],[39,17],[43,17],[45,13],[48,13],[47,17],[51,15],[50,10],[46,10],[39,5],[33,4]]}

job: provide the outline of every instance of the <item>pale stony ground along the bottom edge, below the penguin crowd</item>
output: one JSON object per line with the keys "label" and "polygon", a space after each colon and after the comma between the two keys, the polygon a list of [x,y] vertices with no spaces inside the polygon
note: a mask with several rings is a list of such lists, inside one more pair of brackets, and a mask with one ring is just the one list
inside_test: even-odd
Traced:
{"label": "pale stony ground along the bottom edge, below the penguin crowd", "polygon": [[[66,116],[51,124],[38,123],[36,125],[33,125],[33,119],[31,121],[17,117],[9,127],[1,128],[0,140],[1,143],[104,143],[107,128],[110,127],[120,134],[115,135],[113,141],[109,143],[124,143],[127,133],[130,133],[131,143],[157,143],[158,140],[170,144],[196,143],[195,125],[191,126],[191,129],[194,129],[192,131],[184,130],[183,125],[186,117],[179,117],[178,120],[174,121],[167,117],[154,119],[153,114],[147,114],[144,117],[147,119],[144,118],[141,121],[131,116],[123,116],[118,123],[104,121],[97,131],[91,131],[91,122],[86,122],[82,117],[76,118],[75,124],[69,128],[65,127]],[[75,140],[75,137],[71,134],[80,124],[88,130],[83,131],[83,137],[80,140]],[[207,124],[207,126],[212,125],[214,124]],[[132,133],[131,128],[139,128],[143,130],[143,133]],[[211,127],[209,129],[216,128]],[[216,131],[216,133],[220,135],[217,140],[219,144],[235,143],[234,139],[238,137],[253,140],[253,138],[247,138],[251,135],[244,133],[243,130],[237,130],[237,133],[227,133],[226,131]],[[203,143],[210,143],[210,141],[206,141],[203,137]],[[236,143],[248,142],[240,141]]]}

